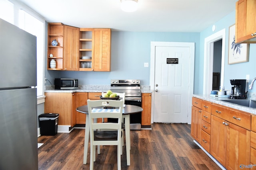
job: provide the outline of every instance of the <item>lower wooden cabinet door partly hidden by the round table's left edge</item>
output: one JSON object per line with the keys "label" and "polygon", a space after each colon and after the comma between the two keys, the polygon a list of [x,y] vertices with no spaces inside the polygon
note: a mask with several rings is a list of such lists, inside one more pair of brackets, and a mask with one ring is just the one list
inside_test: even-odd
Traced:
{"label": "lower wooden cabinet door partly hidden by the round table's left edge", "polygon": [[[76,93],[76,107],[87,105],[88,93],[77,92]],[[76,111],[76,124],[85,124],[86,114]]]}

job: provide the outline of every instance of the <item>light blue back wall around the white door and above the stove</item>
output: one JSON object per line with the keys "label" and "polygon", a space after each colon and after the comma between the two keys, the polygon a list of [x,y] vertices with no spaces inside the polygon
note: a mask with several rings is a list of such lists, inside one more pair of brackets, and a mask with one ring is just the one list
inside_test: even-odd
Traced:
{"label": "light blue back wall around the white door and above the stove", "polygon": [[[45,76],[52,84],[54,78],[78,78],[79,85],[110,85],[111,79],[140,79],[141,85],[149,85],[150,42],[194,42],[195,68],[198,68],[199,35],[200,33],[112,31],[111,72],[55,71],[46,68]],[[144,67],[144,63],[149,63],[149,67]],[[195,69],[195,74],[198,75],[198,69]]]}

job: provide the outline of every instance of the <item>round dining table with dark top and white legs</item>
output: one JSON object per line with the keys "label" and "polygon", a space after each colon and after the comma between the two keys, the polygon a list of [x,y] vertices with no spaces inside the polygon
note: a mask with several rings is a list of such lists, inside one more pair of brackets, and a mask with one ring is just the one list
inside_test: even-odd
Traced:
{"label": "round dining table with dark top and white legs", "polygon": [[[139,106],[134,105],[125,105],[123,107],[123,117],[124,126],[125,126],[125,141],[126,141],[126,159],[127,159],[127,166],[130,166],[130,114],[139,113],[143,109]],[[88,153],[88,144],[89,144],[89,114],[88,114],[88,107],[87,105],[80,106],[76,108],[76,111],[80,113],[86,114],[86,122],[85,122],[85,137],[84,137],[84,164],[87,163],[87,153]]]}

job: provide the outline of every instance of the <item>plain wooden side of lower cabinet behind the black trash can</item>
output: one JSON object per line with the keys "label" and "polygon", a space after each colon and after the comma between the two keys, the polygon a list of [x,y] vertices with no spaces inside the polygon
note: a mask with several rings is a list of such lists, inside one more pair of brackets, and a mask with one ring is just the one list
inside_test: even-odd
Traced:
{"label": "plain wooden side of lower cabinet behind the black trash can", "polygon": [[58,113],[58,125],[76,125],[76,93],[45,93],[45,96],[45,113]]}

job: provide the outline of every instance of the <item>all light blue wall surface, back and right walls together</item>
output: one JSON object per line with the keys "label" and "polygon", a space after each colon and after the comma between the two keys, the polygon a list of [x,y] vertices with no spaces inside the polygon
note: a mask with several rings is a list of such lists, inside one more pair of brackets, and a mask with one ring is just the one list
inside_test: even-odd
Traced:
{"label": "all light blue wall surface, back and right walls together", "polygon": [[[251,82],[256,77],[256,44],[250,44],[249,62],[228,64],[228,30],[234,23],[235,11],[214,23],[214,32],[212,26],[201,33],[112,31],[111,72],[53,71],[46,68],[45,76],[52,84],[54,78],[78,78],[80,85],[110,85],[111,79],[140,79],[142,85],[149,85],[150,67],[144,67],[144,63],[150,66],[151,41],[195,42],[194,94],[202,94],[204,39],[225,28],[224,86],[230,89],[230,79],[246,79],[246,74],[249,74]],[[256,92],[256,87],[249,92]]]}

